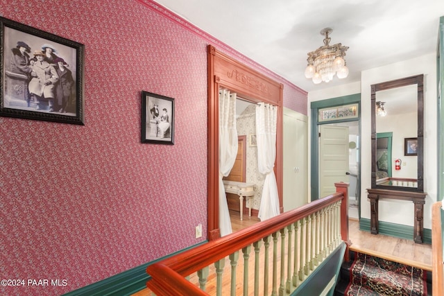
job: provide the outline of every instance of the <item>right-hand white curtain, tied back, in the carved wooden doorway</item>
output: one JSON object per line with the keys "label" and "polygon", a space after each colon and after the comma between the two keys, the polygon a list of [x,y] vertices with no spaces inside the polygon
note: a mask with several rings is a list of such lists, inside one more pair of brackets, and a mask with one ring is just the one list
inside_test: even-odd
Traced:
{"label": "right-hand white curtain, tied back, in the carved wooden doorway", "polygon": [[261,221],[279,214],[278,184],[273,171],[276,158],[278,108],[259,103],[256,106],[257,166],[265,176],[258,217]]}

